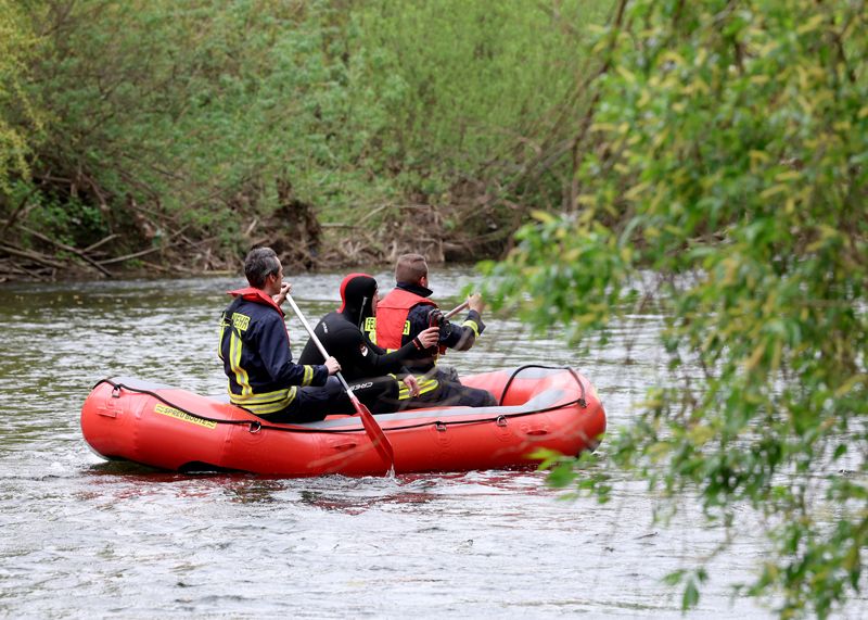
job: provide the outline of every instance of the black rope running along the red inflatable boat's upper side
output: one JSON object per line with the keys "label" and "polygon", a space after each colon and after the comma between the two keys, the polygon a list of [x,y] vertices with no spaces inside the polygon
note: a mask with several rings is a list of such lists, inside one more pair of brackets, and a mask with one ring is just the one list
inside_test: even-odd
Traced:
{"label": "black rope running along the red inflatable boat's upper side", "polygon": [[[560,403],[558,405],[551,405],[550,407],[542,407],[542,408],[539,408],[539,409],[529,409],[529,410],[526,410],[526,412],[519,412],[519,413],[515,413],[515,414],[497,414],[496,416],[494,416],[492,418],[475,419],[475,420],[452,420],[452,421],[430,420],[430,421],[425,421],[425,422],[403,425],[403,426],[399,426],[399,427],[390,427],[388,429],[384,429],[384,430],[386,430],[386,432],[388,432],[388,431],[409,430],[409,429],[418,429],[418,428],[427,427],[427,426],[434,426],[437,430],[445,431],[446,428],[450,427],[450,426],[481,425],[481,423],[489,423],[489,422],[496,422],[498,426],[506,426],[507,418],[521,418],[521,417],[525,417],[525,416],[533,416],[533,415],[536,415],[536,414],[546,414],[548,412],[562,409],[564,407],[570,407],[570,406],[576,405],[576,404],[579,405],[582,408],[587,408],[588,404],[585,401],[585,385],[582,383],[582,380],[578,378],[578,375],[576,374],[575,370],[573,370],[569,366],[541,366],[541,365],[537,365],[537,364],[527,364],[525,366],[520,366],[519,368],[513,370],[512,375],[510,375],[510,378],[507,380],[506,385],[503,385],[503,392],[500,395],[500,400],[498,401],[499,403],[502,403],[503,398],[506,398],[507,391],[509,390],[510,385],[512,384],[513,379],[515,379],[515,377],[522,370],[526,370],[528,368],[541,368],[541,369],[545,369],[545,370],[569,370],[570,374],[573,376],[573,378],[576,380],[576,383],[578,383],[578,388],[582,391],[582,395],[578,398],[576,398],[574,401],[570,401],[567,403]],[[128,392],[136,392],[138,394],[146,394],[149,396],[153,396],[154,398],[156,398],[157,401],[159,401],[161,403],[163,403],[165,405],[168,405],[169,407],[178,409],[179,412],[181,412],[183,414],[187,414],[188,416],[192,416],[192,417],[194,417],[194,418],[196,418],[199,420],[202,420],[202,421],[214,422],[214,423],[218,423],[218,425],[239,425],[239,426],[247,425],[247,426],[250,426],[250,431],[252,433],[259,432],[263,429],[281,431],[281,432],[298,432],[298,433],[335,433],[335,434],[341,434],[341,433],[358,432],[358,429],[320,429],[320,428],[316,428],[315,429],[315,428],[305,428],[305,427],[301,427],[301,426],[294,426],[292,423],[288,423],[288,425],[270,423],[269,425],[269,423],[264,423],[264,421],[267,421],[267,420],[264,420],[264,419],[259,419],[259,420],[227,420],[227,419],[220,419],[220,418],[209,418],[207,416],[203,416],[201,414],[196,414],[194,412],[191,412],[190,409],[186,409],[186,408],[181,407],[180,405],[178,405],[176,403],[173,403],[171,401],[169,401],[165,396],[161,395],[159,393],[154,392],[153,390],[145,390],[143,388],[132,388],[132,387],[127,385],[125,383],[116,383],[116,382],[114,382],[114,381],[112,381],[111,379],[107,379],[107,378],[106,379],[101,379],[100,381],[98,381],[97,384],[93,385],[93,388],[95,389],[97,385],[99,385],[101,383],[108,383],[110,385],[112,385],[112,388],[114,388],[114,390],[112,391],[112,396],[113,397],[117,397],[117,395],[115,395],[115,394],[119,395],[120,390],[127,390]],[[233,405],[233,406],[238,407],[239,405]],[[239,407],[239,408],[243,409],[244,407]],[[244,410],[246,410],[246,409],[244,409]],[[255,414],[251,414],[251,415],[255,415]]]}

